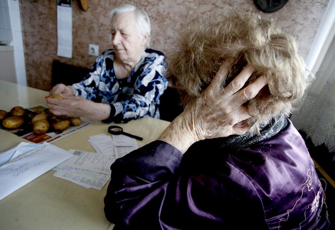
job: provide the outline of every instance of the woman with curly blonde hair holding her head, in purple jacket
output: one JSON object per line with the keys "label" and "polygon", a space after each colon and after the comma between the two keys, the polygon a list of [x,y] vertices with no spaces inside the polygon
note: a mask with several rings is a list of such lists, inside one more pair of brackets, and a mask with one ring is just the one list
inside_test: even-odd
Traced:
{"label": "woman with curly blonde hair holding her head, in purple jacket", "polygon": [[184,25],[168,80],[184,111],[119,158],[105,197],[117,229],[325,229],[324,191],[288,116],[308,85],[296,43],[249,10]]}

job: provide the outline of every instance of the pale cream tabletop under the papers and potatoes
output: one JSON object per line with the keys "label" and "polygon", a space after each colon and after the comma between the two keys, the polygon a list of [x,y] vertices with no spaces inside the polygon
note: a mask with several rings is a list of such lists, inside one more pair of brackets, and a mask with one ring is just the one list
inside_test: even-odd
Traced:
{"label": "pale cream tabletop under the papers and potatoes", "polygon": [[[48,92],[0,80],[0,109],[10,111],[45,104]],[[139,147],[155,140],[170,122],[150,117],[117,124],[124,131],[140,137]],[[88,143],[90,136],[108,135],[108,124],[94,122],[54,145],[64,149],[95,152]],[[26,141],[0,129],[0,151]],[[26,141],[27,142],[27,141]],[[0,229],[112,229],[104,214],[102,189],[87,189],[53,176],[49,171],[0,200]]]}

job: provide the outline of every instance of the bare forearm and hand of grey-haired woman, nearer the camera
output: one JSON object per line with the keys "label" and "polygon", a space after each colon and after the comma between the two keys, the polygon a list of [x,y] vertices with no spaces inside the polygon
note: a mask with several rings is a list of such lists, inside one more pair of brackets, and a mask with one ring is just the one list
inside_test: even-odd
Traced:
{"label": "bare forearm and hand of grey-haired woman, nearer the camera", "polygon": [[[64,94],[61,94],[62,96]],[[69,117],[86,117],[91,120],[104,120],[109,117],[110,106],[95,103],[80,96],[66,96],[63,99],[46,98],[47,106],[52,114]]]}

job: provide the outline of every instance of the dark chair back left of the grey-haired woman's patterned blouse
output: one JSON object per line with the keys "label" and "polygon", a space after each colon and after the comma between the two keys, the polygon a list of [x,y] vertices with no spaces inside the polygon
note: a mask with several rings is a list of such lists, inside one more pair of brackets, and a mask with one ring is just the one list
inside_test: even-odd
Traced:
{"label": "dark chair back left of the grey-haired woman's patterned blouse", "polygon": [[59,60],[53,60],[51,86],[53,87],[59,83],[72,85],[80,82],[89,71],[89,69],[83,67],[77,67],[72,64],[61,63]]}

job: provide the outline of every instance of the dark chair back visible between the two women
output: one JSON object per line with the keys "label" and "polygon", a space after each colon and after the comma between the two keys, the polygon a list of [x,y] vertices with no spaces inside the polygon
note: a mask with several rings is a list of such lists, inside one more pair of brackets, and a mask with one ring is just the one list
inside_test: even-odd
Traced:
{"label": "dark chair back visible between the two women", "polygon": [[168,86],[160,96],[159,114],[161,120],[173,121],[180,113],[183,107],[180,106],[178,90]]}

